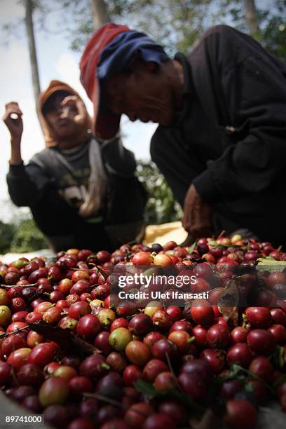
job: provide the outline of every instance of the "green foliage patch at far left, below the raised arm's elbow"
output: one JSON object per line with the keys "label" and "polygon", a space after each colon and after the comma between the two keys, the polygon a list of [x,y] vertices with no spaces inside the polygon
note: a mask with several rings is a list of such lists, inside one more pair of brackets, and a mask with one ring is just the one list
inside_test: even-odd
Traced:
{"label": "green foliage patch at far left, below the raised arm's elbow", "polygon": [[15,230],[10,251],[17,253],[33,252],[33,250],[47,247],[46,238],[36,227],[34,221],[32,219],[25,219],[20,222]]}

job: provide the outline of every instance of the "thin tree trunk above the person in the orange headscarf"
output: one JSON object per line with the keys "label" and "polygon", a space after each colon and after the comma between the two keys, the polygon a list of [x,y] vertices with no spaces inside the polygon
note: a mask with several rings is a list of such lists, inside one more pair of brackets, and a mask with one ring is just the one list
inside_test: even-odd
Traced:
{"label": "thin tree trunk above the person in the orange headscarf", "polygon": [[25,25],[27,32],[27,39],[29,44],[29,58],[32,71],[32,85],[34,90],[34,99],[36,106],[38,104],[38,97],[41,93],[40,79],[39,79],[39,69],[38,62],[36,59],[36,45],[34,39],[34,27],[33,27],[33,5],[32,0],[25,0]]}

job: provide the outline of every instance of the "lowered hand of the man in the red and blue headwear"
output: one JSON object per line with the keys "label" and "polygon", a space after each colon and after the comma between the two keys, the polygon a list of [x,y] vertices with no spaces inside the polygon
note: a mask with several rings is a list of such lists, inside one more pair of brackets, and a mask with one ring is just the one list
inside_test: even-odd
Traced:
{"label": "lowered hand of the man in the red and blue headwear", "polygon": [[193,184],[184,200],[182,224],[193,240],[212,234],[212,206],[203,202]]}

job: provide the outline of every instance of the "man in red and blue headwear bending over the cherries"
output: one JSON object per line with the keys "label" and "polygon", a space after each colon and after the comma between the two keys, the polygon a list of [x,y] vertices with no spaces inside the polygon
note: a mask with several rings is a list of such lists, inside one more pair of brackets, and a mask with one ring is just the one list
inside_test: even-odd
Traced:
{"label": "man in red and blue headwear bending over the cherries", "polygon": [[115,135],[121,114],[159,124],[151,157],[184,208],[190,242],[240,230],[286,244],[285,64],[225,25],[171,59],[146,34],[107,24],[80,67],[95,135]]}

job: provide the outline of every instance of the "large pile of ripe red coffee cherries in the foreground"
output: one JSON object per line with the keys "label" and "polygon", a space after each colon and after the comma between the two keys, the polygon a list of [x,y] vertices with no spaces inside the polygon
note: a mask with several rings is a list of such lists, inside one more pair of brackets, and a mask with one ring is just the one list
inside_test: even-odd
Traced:
{"label": "large pile of ripe red coffee cherries in the foreground", "polygon": [[[282,268],[257,275],[260,258]],[[261,405],[286,412],[283,261],[271,243],[234,236],[1,264],[1,390],[55,428],[187,428],[205,414],[254,428]],[[117,302],[120,273],[142,266],[192,276],[184,292],[208,299]],[[229,312],[219,299],[230,282],[239,297]]]}

